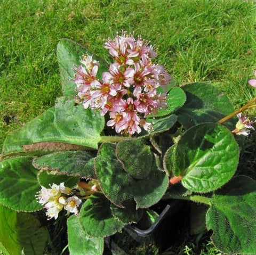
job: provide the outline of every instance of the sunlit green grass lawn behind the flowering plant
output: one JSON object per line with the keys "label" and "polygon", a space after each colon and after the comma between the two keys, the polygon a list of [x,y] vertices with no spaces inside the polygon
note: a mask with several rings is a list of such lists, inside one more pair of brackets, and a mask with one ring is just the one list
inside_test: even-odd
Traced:
{"label": "sunlit green grass lawn behind the flowering plant", "polygon": [[2,0],[0,23],[0,149],[61,95],[55,50],[63,37],[109,62],[104,39],[134,31],[156,45],[177,85],[211,83],[237,107],[256,96],[247,85],[256,69],[255,1]]}

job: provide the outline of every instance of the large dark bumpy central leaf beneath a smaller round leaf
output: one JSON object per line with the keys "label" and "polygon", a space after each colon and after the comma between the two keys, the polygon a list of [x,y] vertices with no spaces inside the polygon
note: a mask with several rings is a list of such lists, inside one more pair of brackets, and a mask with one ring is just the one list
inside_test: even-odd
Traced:
{"label": "large dark bumpy central leaf beneath a smaller round leaf", "polygon": [[116,144],[103,143],[95,160],[95,171],[107,198],[119,207],[132,198],[137,203],[137,208],[147,208],[157,203],[168,186],[165,172],[159,171],[153,161],[147,177],[134,179],[124,171],[115,151]]}

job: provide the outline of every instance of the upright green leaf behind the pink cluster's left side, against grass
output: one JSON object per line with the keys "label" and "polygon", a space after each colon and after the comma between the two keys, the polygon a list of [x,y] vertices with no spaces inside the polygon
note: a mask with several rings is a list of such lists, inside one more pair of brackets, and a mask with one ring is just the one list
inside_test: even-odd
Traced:
{"label": "upright green leaf behind the pink cluster's left side, against grass", "polygon": [[[76,84],[74,78],[74,67],[78,67],[81,64],[80,60],[82,56],[90,53],[81,45],[73,42],[69,39],[61,39],[57,45],[57,59],[60,66],[60,77],[63,95],[76,95]],[[95,60],[99,60],[98,57],[94,57]],[[107,70],[106,63],[100,60],[100,67],[98,75]]]}

